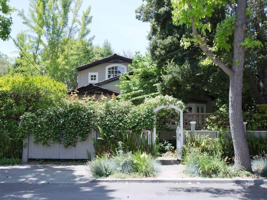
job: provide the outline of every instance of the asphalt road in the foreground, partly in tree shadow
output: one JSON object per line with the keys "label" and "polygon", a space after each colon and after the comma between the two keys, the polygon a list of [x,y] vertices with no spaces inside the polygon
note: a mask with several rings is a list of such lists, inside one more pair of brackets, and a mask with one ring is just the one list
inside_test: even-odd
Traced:
{"label": "asphalt road in the foreground, partly in tree shadow", "polygon": [[0,183],[0,199],[267,199],[267,185]]}

